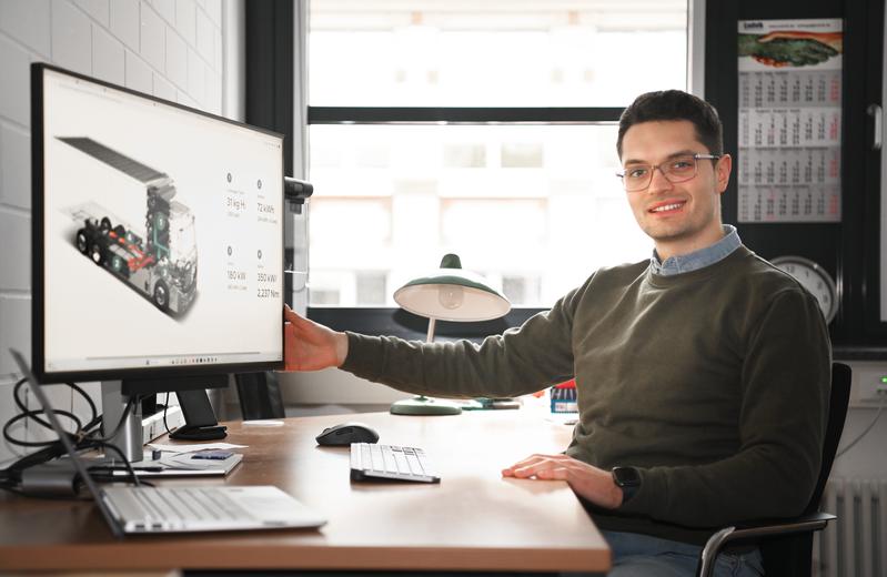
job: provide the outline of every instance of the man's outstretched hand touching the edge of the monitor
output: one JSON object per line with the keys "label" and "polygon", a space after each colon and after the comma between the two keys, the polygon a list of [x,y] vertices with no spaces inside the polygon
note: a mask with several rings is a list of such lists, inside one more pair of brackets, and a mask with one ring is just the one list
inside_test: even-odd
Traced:
{"label": "man's outstretched hand touching the edge of the monitor", "polygon": [[284,371],[320,371],[342,366],[347,356],[347,335],[295,314],[283,305]]}

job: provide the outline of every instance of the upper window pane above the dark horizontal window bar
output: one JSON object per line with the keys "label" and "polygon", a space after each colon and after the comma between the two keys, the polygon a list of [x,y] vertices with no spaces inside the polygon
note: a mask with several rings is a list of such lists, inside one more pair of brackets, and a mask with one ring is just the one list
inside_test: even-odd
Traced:
{"label": "upper window pane above the dark horizontal window bar", "polygon": [[686,89],[686,0],[312,0],[309,10],[313,107],[625,107]]}

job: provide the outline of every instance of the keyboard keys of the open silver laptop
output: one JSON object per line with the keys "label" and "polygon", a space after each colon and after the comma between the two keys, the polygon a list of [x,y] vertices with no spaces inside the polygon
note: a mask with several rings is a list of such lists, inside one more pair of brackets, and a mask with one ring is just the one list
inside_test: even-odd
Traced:
{"label": "keyboard keys of the open silver laptop", "polygon": [[214,487],[147,487],[133,498],[155,520],[235,520],[252,517],[225,492]]}

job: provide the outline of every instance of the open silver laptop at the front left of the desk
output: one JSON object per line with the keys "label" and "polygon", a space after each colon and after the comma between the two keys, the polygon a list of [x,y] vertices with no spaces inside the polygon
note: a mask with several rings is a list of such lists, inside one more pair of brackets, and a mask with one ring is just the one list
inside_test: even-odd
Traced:
{"label": "open silver laptop at the front left of the desk", "polygon": [[115,537],[143,533],[315,528],[326,523],[273,486],[99,487],[28,363],[18,351],[10,348],[10,353]]}

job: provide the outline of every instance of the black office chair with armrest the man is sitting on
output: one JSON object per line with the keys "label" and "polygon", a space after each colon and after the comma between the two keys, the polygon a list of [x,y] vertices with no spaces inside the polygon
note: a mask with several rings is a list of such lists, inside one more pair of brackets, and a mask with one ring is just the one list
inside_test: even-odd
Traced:
{"label": "black office chair with armrest the man is sitting on", "polygon": [[831,365],[831,393],[828,402],[828,424],[825,443],[823,443],[823,464],[819,479],[813,492],[810,502],[799,517],[790,519],[765,519],[758,523],[746,523],[718,530],[705,544],[699,554],[696,575],[710,577],[715,568],[715,559],[720,548],[728,541],[739,539],[757,540],[764,557],[765,575],[779,577],[810,577],[813,557],[813,534],[822,530],[835,515],[819,512],[826,480],[831,472],[838,441],[844,431],[847,417],[847,405],[850,399],[850,367],[834,363]]}

